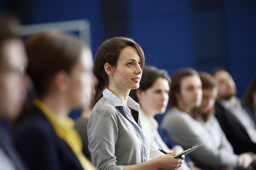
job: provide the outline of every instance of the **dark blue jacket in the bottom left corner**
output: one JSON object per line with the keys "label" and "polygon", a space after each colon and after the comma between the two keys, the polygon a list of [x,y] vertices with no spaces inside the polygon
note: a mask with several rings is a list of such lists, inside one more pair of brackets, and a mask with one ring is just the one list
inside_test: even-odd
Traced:
{"label": "dark blue jacket in the bottom left corner", "polygon": [[[11,141],[10,133],[7,131],[5,127],[0,124],[0,147],[5,152],[5,154],[9,157],[9,159],[13,162],[17,170],[26,170],[27,167],[23,163],[22,159],[16,152],[13,141]],[[0,165],[1,169],[1,165]]]}

